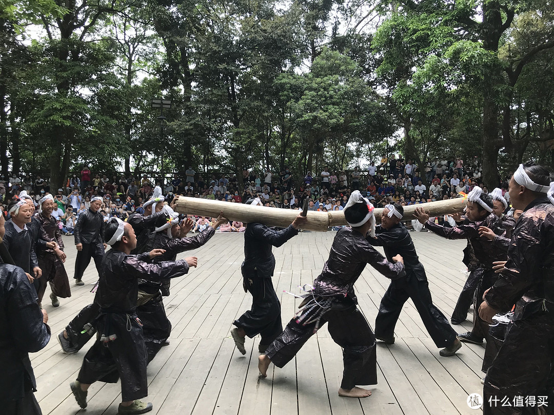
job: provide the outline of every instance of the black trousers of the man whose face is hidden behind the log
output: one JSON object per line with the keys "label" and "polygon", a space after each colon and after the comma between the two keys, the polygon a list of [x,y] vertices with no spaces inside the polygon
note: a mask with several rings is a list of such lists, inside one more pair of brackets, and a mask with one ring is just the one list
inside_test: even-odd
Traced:
{"label": "black trousers of the man whose face is hidden behind the log", "polygon": [[252,307],[233,322],[249,338],[260,334],[261,345],[269,345],[283,332],[281,304],[271,278],[243,276],[244,286],[252,294]]}

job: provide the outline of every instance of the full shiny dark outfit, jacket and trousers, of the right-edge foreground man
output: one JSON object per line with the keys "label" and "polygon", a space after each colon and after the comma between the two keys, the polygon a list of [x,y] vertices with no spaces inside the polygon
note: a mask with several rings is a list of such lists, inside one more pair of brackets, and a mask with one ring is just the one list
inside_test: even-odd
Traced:
{"label": "full shiny dark outfit, jacket and trousers, of the right-edge foreground man", "polygon": [[[554,206],[539,198],[526,207],[514,227],[505,271],[487,293],[499,312],[516,304],[504,344],[485,378],[485,414],[519,414],[522,408],[494,407],[490,397],[553,397],[549,379],[554,365]],[[543,409],[545,409],[543,407]],[[533,408],[537,411],[537,407]],[[537,412],[527,412],[537,413]]]}

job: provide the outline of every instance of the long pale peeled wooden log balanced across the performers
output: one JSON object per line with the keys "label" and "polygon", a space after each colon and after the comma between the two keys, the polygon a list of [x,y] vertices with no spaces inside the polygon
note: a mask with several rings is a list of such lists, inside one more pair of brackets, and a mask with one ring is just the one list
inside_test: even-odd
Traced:
{"label": "long pale peeled wooden log balanced across the performers", "polygon": [[[175,210],[187,215],[217,217],[220,211],[230,221],[259,222],[268,226],[287,227],[298,215],[297,210],[279,209],[278,207],[252,206],[242,203],[230,203],[219,200],[188,198],[179,196]],[[439,200],[422,205],[404,206],[403,220],[415,219],[413,212],[416,207],[423,207],[430,216],[454,214],[464,210],[465,199]],[[383,209],[375,209],[377,222],[381,221]],[[307,212],[307,223],[302,229],[309,231],[327,231],[331,226],[348,225],[343,211]]]}

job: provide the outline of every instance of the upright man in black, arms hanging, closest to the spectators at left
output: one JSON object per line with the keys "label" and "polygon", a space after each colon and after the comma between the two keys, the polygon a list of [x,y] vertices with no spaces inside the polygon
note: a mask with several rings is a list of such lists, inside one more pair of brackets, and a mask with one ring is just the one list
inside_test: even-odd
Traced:
{"label": "upright man in black, arms hanging, closest to the spectators at left", "polygon": [[89,266],[90,258],[94,258],[96,270],[100,274],[100,264],[104,257],[104,248],[106,244],[102,241],[104,234],[104,217],[98,211],[102,206],[102,198],[95,196],[90,200],[90,207],[79,215],[75,224],[73,236],[75,237],[75,247],[77,248],[77,258],[75,259],[75,284],[84,286],[82,281],[83,273]]}

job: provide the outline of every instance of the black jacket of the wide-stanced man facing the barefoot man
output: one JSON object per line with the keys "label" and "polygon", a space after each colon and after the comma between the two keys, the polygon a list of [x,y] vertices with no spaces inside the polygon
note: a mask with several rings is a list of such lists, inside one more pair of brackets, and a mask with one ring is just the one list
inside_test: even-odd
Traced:
{"label": "black jacket of the wide-stanced man facing the barefoot man", "polygon": [[397,224],[391,229],[383,229],[378,225],[375,229],[376,238],[366,237],[366,240],[373,246],[382,246],[387,260],[392,262],[392,257],[400,254],[404,260],[406,274],[414,274],[418,281],[427,281],[425,269],[416,252],[412,237],[402,224]]}

